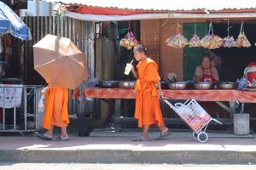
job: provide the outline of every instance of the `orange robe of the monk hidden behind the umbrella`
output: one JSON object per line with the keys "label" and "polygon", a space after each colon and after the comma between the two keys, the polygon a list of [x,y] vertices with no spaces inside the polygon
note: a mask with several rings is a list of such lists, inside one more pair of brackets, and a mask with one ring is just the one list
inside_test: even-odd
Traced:
{"label": "orange robe of the monk hidden behind the umbrella", "polygon": [[49,129],[51,125],[67,127],[68,117],[68,89],[48,88],[44,95],[43,127]]}

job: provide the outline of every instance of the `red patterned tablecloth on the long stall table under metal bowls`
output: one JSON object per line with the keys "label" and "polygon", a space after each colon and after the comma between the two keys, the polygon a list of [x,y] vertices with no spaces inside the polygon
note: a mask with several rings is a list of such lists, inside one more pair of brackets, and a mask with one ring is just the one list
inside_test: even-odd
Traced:
{"label": "red patterned tablecloth on the long stall table under metal bowls", "polygon": [[[84,96],[102,99],[134,99],[134,89],[86,88]],[[163,90],[166,99],[195,99],[197,101],[240,101],[256,103],[256,92],[240,90]]]}

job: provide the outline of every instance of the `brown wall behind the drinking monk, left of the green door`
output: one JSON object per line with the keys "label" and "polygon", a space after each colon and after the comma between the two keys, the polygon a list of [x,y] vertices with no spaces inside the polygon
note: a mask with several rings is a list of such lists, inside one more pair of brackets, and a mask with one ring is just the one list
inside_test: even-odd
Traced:
{"label": "brown wall behind the drinking monk, left of the green door", "polygon": [[183,48],[171,48],[166,38],[183,33],[183,23],[206,22],[207,20],[141,20],[141,42],[148,48],[148,56],[159,65],[160,77],[166,80],[168,73],[176,73],[177,81],[183,81]]}

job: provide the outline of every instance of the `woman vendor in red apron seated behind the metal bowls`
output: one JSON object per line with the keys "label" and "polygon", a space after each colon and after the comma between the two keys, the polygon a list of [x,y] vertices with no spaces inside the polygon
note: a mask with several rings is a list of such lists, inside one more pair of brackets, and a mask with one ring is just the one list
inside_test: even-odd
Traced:
{"label": "woman vendor in red apron seated behind the metal bowls", "polygon": [[210,54],[203,54],[201,65],[195,68],[195,82],[218,82],[218,71],[212,66]]}

